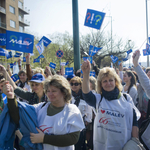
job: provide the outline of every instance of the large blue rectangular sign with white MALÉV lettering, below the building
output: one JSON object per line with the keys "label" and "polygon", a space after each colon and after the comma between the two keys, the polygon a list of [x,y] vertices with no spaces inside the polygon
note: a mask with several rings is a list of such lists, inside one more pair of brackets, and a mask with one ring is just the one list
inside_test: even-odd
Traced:
{"label": "large blue rectangular sign with white MAL\u00c9V lettering, below the building", "polygon": [[33,53],[34,36],[6,30],[6,49]]}

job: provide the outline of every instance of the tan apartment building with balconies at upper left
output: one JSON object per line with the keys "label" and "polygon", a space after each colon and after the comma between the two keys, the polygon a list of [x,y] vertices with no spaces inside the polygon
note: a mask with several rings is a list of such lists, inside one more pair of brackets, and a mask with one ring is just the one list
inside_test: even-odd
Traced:
{"label": "tan apartment building with balconies at upper left", "polygon": [[6,30],[24,32],[30,25],[24,19],[29,11],[24,7],[24,0],[0,0],[0,33],[6,33]]}

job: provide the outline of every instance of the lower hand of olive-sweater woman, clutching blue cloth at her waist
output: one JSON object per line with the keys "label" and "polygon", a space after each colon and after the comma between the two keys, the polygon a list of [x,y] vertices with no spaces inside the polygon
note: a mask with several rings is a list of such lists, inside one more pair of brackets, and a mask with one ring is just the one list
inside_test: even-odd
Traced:
{"label": "lower hand of olive-sweater woman, clutching blue cloth at her waist", "polygon": [[43,143],[44,133],[36,128],[39,133],[30,133],[30,139],[32,143]]}

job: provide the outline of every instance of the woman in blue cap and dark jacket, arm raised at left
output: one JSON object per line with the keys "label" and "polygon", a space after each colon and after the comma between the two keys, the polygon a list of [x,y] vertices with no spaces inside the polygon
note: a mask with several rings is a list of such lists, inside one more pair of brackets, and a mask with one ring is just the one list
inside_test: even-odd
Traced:
{"label": "woman in blue cap and dark jacket, arm raised at left", "polygon": [[7,73],[4,66],[0,65],[0,70],[3,72],[3,74],[7,77],[7,80],[10,82],[10,84],[14,88],[14,93],[19,96],[22,99],[25,99],[28,101],[29,104],[37,104],[39,102],[47,102],[47,96],[44,93],[43,89],[43,81],[45,80],[45,77],[37,73],[32,76],[30,82],[30,86],[33,92],[25,91],[20,87],[17,87],[14,81],[11,79],[9,74]]}

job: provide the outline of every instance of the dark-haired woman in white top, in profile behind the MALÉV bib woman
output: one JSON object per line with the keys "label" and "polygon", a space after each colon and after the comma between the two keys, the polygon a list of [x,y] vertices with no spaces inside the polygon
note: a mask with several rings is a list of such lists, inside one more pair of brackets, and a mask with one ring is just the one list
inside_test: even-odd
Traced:
{"label": "dark-haired woman in white top, in profile behind the MAL\u00c9V bib woman", "polygon": [[123,86],[122,93],[128,93],[134,104],[137,105],[137,87],[136,87],[136,77],[133,74],[132,71],[126,70],[123,75],[123,81],[125,82],[125,85]]}

